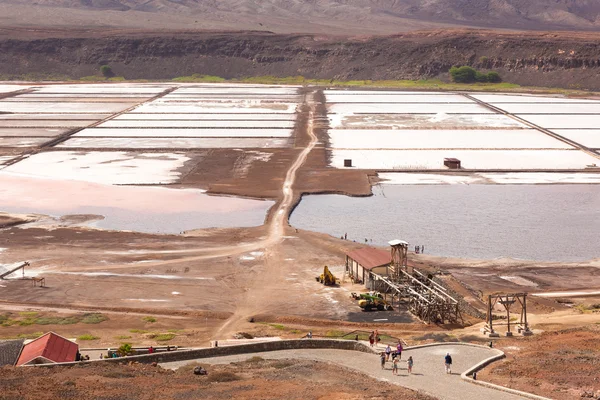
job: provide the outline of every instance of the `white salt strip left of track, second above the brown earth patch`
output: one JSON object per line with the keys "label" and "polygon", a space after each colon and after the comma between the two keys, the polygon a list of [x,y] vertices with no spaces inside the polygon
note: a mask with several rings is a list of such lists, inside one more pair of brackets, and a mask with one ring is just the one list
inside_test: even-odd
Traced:
{"label": "white salt strip left of track, second above the brown earth patch", "polygon": [[136,128],[90,128],[73,135],[74,137],[223,137],[223,138],[287,138],[291,129],[136,129]]}

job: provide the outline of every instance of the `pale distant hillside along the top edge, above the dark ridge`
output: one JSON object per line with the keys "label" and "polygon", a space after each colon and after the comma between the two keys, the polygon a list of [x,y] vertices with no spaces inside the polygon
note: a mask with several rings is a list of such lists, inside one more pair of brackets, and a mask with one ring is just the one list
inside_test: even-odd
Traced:
{"label": "pale distant hillside along the top edge, above the dark ridge", "polygon": [[[128,23],[119,19],[122,16],[145,21],[143,14],[158,13],[168,25],[160,26],[159,22],[157,26],[156,19],[151,19],[159,28],[173,28],[168,16],[178,15],[186,18],[182,23],[203,28],[249,29],[251,22],[255,29],[266,27],[277,32],[285,32],[287,24],[294,32],[352,29],[389,34],[405,30],[407,23],[414,29],[422,28],[419,21],[518,29],[600,29],[598,0],[36,0],[33,4],[30,0],[0,0],[0,4],[29,7],[29,12],[22,8],[11,15],[10,20],[18,25],[31,18],[32,9],[61,8],[64,24],[71,20],[71,24],[83,25],[88,19],[87,25],[93,25],[100,18],[95,12],[110,11],[112,26],[126,24],[123,27],[133,27],[135,21]],[[43,26],[57,22],[55,18],[36,20]],[[351,26],[344,27],[348,24]]]}

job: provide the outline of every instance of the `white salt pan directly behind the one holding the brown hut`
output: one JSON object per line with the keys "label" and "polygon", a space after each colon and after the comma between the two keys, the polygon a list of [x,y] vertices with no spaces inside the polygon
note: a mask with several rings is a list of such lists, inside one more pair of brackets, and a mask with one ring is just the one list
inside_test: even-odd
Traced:
{"label": "white salt pan directly behind the one holding the brown hut", "polygon": [[329,130],[337,149],[569,149],[534,129],[513,130]]}

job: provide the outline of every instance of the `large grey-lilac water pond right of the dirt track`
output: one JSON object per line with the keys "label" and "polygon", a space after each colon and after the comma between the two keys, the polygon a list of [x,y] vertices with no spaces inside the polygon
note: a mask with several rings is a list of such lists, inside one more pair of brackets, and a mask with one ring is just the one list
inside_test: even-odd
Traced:
{"label": "large grey-lilac water pond right of the dirt track", "polygon": [[403,239],[437,256],[600,257],[598,185],[380,185],[373,193],[305,196],[290,223],[374,245]]}

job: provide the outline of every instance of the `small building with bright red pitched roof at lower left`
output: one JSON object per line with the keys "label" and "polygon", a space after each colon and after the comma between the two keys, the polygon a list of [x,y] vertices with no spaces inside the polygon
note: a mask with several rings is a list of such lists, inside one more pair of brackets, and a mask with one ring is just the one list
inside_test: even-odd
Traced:
{"label": "small building with bright red pitched roof at lower left", "polygon": [[23,346],[17,366],[75,361],[78,351],[77,343],[48,332]]}

